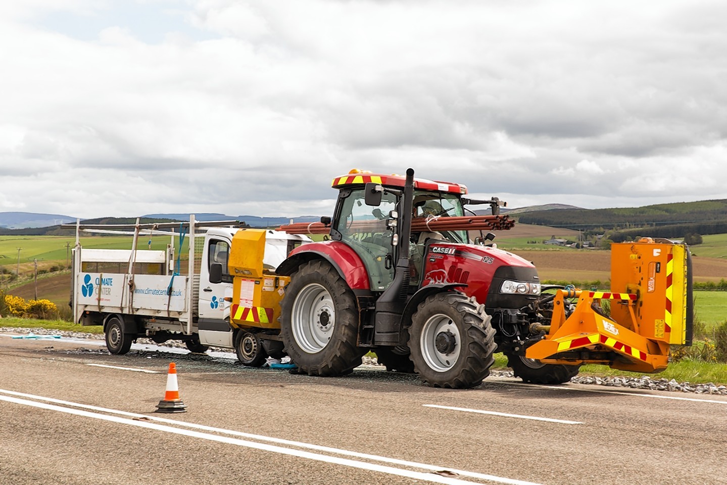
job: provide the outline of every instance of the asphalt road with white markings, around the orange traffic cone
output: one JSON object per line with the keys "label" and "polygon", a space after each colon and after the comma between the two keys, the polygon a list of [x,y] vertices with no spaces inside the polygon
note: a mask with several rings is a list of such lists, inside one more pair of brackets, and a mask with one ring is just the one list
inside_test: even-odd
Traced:
{"label": "asphalt road with white markings, around the orange traffic cone", "polygon": [[[187,412],[159,414],[172,361]],[[0,484],[413,483],[727,484],[727,397],[441,390],[0,336]]]}

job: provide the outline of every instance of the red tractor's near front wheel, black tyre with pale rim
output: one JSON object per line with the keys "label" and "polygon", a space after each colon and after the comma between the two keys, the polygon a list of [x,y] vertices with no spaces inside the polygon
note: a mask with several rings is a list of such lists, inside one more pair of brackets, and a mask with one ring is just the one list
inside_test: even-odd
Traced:
{"label": "red tractor's near front wheel, black tyre with pale rim", "polygon": [[464,294],[427,297],[411,317],[409,350],[414,369],[435,388],[473,388],[494,363],[495,331],[484,305]]}

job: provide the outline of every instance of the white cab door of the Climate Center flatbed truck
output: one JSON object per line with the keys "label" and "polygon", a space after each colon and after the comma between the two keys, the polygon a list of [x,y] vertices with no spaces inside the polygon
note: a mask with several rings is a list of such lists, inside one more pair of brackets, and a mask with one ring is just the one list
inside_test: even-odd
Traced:
{"label": "white cab door of the Climate Center flatbed truck", "polygon": [[[232,297],[232,276],[228,273],[230,241],[209,237],[205,244],[199,275],[199,340],[203,345],[232,348],[230,308],[225,302],[225,297]],[[209,282],[209,267],[214,262],[222,264],[222,283]]]}

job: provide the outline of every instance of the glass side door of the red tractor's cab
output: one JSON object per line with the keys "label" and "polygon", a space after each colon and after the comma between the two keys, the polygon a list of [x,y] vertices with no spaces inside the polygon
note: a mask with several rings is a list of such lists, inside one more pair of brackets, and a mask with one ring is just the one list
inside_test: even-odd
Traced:
{"label": "glass side door of the red tractor's cab", "polygon": [[369,273],[371,289],[382,292],[394,277],[393,232],[387,228],[389,213],[396,209],[396,197],[382,194],[381,204],[367,206],[364,189],[344,190],[339,194],[338,211],[332,236],[356,251]]}

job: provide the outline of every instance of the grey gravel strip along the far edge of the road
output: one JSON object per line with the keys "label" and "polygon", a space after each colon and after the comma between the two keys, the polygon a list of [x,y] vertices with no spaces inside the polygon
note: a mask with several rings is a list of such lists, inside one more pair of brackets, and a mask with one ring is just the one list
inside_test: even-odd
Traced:
{"label": "grey gravel strip along the far edge of the road", "polygon": [[[49,330],[49,329],[25,329],[16,327],[0,327],[0,333],[16,333],[16,334],[28,334],[33,333],[36,335],[60,335],[61,337],[70,337],[75,339],[92,339],[92,340],[103,340],[103,334],[91,334],[87,332],[68,332],[62,330]],[[148,339],[140,339],[142,341]],[[149,343],[153,342],[148,340]],[[169,340],[164,345],[168,347],[180,347],[185,348],[183,342]],[[214,350],[222,352],[233,352],[230,349],[215,348]],[[378,365],[376,358],[366,357],[363,358],[364,365]],[[494,377],[515,377],[513,371],[499,371],[491,370],[490,375]],[[595,376],[576,376],[571,379],[571,382],[577,384],[589,384],[589,385],[604,385],[611,388],[631,388],[631,389],[648,389],[648,390],[663,390],[667,392],[677,393],[694,393],[694,394],[713,394],[727,396],[727,386],[716,385],[713,382],[707,382],[707,384],[692,384],[691,382],[677,382],[676,380],[668,379],[651,379],[648,376],[641,377],[595,377]]]}

